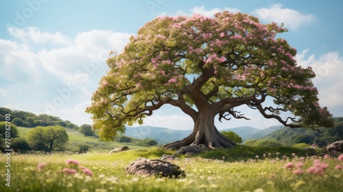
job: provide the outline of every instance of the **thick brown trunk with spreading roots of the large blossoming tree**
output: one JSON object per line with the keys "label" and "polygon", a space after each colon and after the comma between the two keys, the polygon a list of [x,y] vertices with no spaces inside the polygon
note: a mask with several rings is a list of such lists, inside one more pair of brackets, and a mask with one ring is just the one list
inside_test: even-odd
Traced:
{"label": "thick brown trunk with spreading roots of the large blossoming tree", "polygon": [[202,110],[195,119],[193,132],[181,141],[175,141],[164,145],[166,149],[179,149],[187,145],[206,145],[210,149],[215,147],[227,148],[236,144],[230,141],[217,128],[215,128],[215,113],[211,110]]}

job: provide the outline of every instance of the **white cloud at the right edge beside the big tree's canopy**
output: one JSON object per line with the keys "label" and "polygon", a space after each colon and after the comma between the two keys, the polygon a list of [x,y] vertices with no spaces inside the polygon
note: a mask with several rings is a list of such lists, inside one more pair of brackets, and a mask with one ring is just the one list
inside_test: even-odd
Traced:
{"label": "white cloud at the right edge beside the big tree's canopy", "polygon": [[312,80],[318,88],[321,106],[327,106],[335,117],[343,116],[343,59],[337,52],[325,53],[317,58],[307,57],[309,49],[298,53],[296,60],[302,67],[311,67],[316,73]]}

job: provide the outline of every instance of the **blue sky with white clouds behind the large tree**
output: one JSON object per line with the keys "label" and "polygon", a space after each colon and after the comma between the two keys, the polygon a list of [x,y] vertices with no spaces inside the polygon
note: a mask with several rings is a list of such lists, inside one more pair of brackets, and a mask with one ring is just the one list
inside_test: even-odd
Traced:
{"label": "blue sky with white clouds behind the large tree", "polygon": [[[289,32],[279,37],[298,50],[298,64],[316,72],[320,105],[343,117],[342,8],[343,1],[0,1],[0,107],[91,124],[84,110],[106,75],[110,51],[120,53],[139,27],[158,16],[228,10],[284,23]],[[217,128],[279,125],[250,108],[238,109],[250,121],[216,121]],[[144,125],[191,130],[193,121],[164,106]]]}

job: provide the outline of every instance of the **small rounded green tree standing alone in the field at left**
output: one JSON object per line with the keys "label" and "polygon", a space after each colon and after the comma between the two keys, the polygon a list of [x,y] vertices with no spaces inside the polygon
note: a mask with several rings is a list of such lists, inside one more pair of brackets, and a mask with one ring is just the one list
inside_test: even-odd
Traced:
{"label": "small rounded green tree standing alone in the field at left", "polygon": [[63,147],[68,139],[66,130],[60,126],[37,127],[27,134],[27,141],[33,149],[48,149],[50,152]]}

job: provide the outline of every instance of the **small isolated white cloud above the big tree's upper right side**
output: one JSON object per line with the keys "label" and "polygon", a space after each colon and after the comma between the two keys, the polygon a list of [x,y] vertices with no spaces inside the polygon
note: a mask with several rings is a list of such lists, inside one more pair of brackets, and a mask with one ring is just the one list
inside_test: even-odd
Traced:
{"label": "small isolated white cloud above the big tree's upper right side", "polygon": [[301,25],[309,24],[316,18],[312,14],[302,14],[296,10],[282,8],[280,3],[272,5],[270,8],[255,10],[259,19],[265,22],[284,23],[289,29],[298,29]]}

